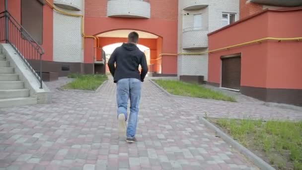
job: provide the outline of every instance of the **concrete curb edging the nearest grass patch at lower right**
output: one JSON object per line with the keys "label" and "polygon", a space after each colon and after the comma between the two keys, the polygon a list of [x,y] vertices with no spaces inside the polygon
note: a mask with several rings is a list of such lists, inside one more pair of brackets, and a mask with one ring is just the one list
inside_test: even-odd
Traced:
{"label": "concrete curb edging the nearest grass patch at lower right", "polygon": [[272,166],[267,164],[265,161],[263,161],[261,158],[253,154],[250,150],[233,140],[231,137],[229,137],[226,133],[224,133],[222,130],[220,130],[218,127],[216,127],[214,124],[209,122],[207,119],[205,119],[202,116],[198,116],[199,120],[206,125],[208,128],[214,130],[216,134],[221,137],[225,142],[230,144],[233,148],[235,148],[239,153],[244,155],[246,158],[248,158],[252,163],[254,163],[260,170],[275,170]]}

